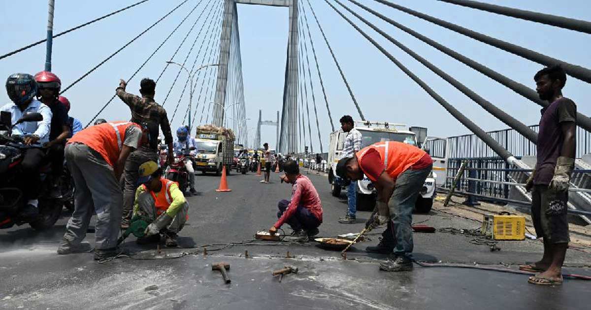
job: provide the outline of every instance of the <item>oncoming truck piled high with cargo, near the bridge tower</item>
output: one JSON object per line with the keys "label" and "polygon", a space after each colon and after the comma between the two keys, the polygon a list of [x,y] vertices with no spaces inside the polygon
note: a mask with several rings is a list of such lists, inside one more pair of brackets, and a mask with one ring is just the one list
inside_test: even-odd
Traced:
{"label": "oncoming truck piled high with cargo, near the bridge tower", "polygon": [[234,159],[234,133],[232,129],[214,125],[197,127],[195,141],[197,142],[197,154],[195,156],[195,171],[215,172],[222,174],[222,168],[226,167],[226,173],[232,171]]}

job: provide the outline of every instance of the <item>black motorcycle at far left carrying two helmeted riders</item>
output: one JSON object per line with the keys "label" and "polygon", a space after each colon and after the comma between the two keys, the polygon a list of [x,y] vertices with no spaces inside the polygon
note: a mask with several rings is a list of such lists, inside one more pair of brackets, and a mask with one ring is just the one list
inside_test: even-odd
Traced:
{"label": "black motorcycle at far left carrying two helmeted riders", "polygon": [[[20,183],[21,162],[24,153],[30,148],[41,148],[41,145],[24,145],[23,137],[12,136],[12,128],[22,122],[40,122],[43,116],[40,113],[27,113],[14,125],[11,123],[11,113],[1,112],[0,130],[0,229],[8,229],[15,224],[21,226],[28,223],[35,230],[44,230],[52,227],[61,216],[64,200],[72,198],[72,195],[62,198],[50,197],[49,167],[43,167],[40,172],[41,191],[39,192],[39,215],[35,218],[21,218],[18,212],[24,207],[27,200],[24,193],[14,184]],[[62,184],[60,190],[67,191],[71,182]]]}

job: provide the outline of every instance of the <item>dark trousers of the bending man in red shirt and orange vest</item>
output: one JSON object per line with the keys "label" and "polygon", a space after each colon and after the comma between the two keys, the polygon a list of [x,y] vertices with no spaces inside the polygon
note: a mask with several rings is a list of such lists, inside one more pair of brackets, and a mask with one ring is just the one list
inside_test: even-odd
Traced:
{"label": "dark trousers of the bending man in red shirt and orange vest", "polygon": [[394,192],[388,201],[390,223],[382,233],[382,243],[394,247],[394,255],[410,256],[413,253],[413,210],[418,192],[431,172],[431,168],[412,169],[402,172],[396,180]]}

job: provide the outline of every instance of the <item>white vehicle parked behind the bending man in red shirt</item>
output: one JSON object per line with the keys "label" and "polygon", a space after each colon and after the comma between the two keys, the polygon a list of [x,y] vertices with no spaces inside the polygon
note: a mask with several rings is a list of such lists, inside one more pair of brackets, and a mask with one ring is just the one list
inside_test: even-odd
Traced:
{"label": "white vehicle parked behind the bending man in red shirt", "polygon": [[[388,122],[363,122],[355,121],[355,129],[361,132],[361,147],[372,145],[376,142],[397,141],[418,146],[417,133],[408,129],[406,125]],[[426,135],[426,129],[424,129]],[[345,190],[342,179],[336,175],[336,164],[341,158],[346,132],[337,130],[330,133],[329,145],[329,183],[331,184],[332,195],[340,197],[341,191]],[[421,137],[423,138],[423,137]],[[437,175],[433,171],[428,175],[427,180],[420,191],[415,204],[415,211],[428,213],[433,206],[436,195]],[[357,208],[358,210],[372,210],[375,205],[376,195],[374,185],[369,178],[363,175],[363,180],[357,182]]]}

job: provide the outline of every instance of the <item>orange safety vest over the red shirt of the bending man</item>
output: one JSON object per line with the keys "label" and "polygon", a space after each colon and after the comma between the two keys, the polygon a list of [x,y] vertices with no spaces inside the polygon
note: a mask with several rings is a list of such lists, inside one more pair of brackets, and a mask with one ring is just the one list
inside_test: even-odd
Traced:
{"label": "orange safety vest over the red shirt of the bending man", "polygon": [[[386,173],[394,180],[398,178],[398,175],[410,168],[415,162],[419,161],[425,156],[425,154],[427,154],[427,152],[414,145],[396,141],[385,141],[362,148],[361,151],[356,154],[358,162],[363,160],[363,156],[367,154],[369,149],[375,149],[379,152],[379,156],[384,160]],[[361,170],[363,171],[362,165],[359,165],[359,167],[361,167]],[[363,171],[363,173],[368,175],[366,171]]]}

